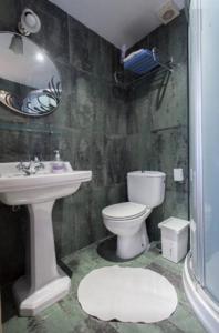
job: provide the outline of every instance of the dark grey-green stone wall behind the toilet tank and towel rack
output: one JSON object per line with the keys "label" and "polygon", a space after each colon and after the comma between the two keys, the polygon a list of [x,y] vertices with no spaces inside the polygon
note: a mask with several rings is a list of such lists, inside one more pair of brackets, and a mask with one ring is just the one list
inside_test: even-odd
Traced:
{"label": "dark grey-green stone wall behind the toilet tank and towel rack", "polygon": [[[167,59],[173,57],[175,63],[171,74],[159,72],[147,77],[131,90],[128,102],[131,169],[159,170],[167,174],[165,202],[147,221],[150,240],[158,240],[157,224],[163,219],[188,218],[187,22],[184,12],[134,49],[142,47],[157,47],[160,54]],[[184,169],[182,183],[174,182],[174,168]]]}

